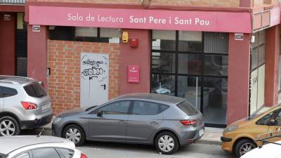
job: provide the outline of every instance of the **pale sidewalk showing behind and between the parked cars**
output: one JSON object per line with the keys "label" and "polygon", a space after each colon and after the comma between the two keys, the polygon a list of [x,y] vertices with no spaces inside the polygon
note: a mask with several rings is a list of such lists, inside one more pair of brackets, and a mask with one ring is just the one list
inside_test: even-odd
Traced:
{"label": "pale sidewalk showing behind and between the parked cars", "polygon": [[[53,121],[52,121],[53,122]],[[44,126],[45,129],[51,129],[51,124]],[[195,143],[221,145],[221,136],[223,129],[205,127],[205,133],[200,140],[196,140]]]}

